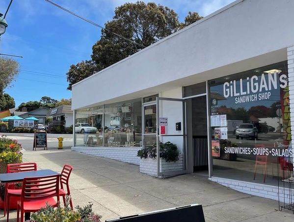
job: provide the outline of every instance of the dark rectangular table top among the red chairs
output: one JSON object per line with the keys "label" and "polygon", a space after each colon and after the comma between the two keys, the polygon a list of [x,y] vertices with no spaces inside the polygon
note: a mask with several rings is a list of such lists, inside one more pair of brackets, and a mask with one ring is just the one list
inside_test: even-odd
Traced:
{"label": "dark rectangular table top among the red chairs", "polygon": [[45,170],[33,170],[26,172],[18,172],[18,173],[0,173],[0,181],[2,183],[5,182],[15,182],[22,181],[25,177],[42,177],[42,176],[51,176],[60,174],[50,169]]}

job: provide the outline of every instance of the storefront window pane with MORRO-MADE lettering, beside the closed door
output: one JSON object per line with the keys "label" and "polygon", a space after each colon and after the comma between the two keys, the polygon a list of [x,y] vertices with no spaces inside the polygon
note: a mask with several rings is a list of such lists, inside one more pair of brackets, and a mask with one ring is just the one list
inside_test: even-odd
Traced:
{"label": "storefront window pane with MORRO-MADE lettering, beside the closed door", "polygon": [[104,112],[104,146],[142,146],[142,100],[140,98],[107,104]]}

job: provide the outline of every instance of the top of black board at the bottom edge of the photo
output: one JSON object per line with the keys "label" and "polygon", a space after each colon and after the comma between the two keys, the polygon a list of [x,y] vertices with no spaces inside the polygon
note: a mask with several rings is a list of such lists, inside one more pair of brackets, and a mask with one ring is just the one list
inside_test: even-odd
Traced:
{"label": "top of black board at the bottom edge of the photo", "polygon": [[192,204],[105,222],[205,222],[202,205]]}

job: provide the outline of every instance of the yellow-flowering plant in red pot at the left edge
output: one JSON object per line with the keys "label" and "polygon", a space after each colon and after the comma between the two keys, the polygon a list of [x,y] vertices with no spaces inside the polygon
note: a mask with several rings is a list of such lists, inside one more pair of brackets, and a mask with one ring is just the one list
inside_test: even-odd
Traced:
{"label": "yellow-flowering plant in red pot at the left edge", "polygon": [[[7,164],[22,162],[23,154],[21,149],[21,145],[16,140],[0,135],[0,173],[6,173]],[[21,183],[10,183],[8,187],[9,189],[20,189]],[[4,207],[4,193],[5,184],[0,183],[0,209]],[[11,197],[9,209],[16,209],[17,200],[16,197]]]}

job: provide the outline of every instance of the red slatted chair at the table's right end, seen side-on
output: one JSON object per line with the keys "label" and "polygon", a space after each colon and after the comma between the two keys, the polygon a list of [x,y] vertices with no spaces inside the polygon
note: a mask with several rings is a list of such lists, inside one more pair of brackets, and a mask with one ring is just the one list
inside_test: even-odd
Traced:
{"label": "red slatted chair at the table's right end, seen side-on", "polygon": [[[65,201],[65,196],[68,195],[70,196],[70,190],[69,190],[69,176],[71,174],[73,170],[73,166],[69,165],[69,164],[64,164],[63,169],[61,171],[61,175],[60,175],[60,189],[59,189],[59,195],[62,196],[63,198],[63,204],[65,206],[66,201]],[[66,188],[66,190],[64,190]],[[72,202],[72,198],[70,197],[69,199],[69,203],[70,203],[70,207],[73,210],[73,202]]]}

